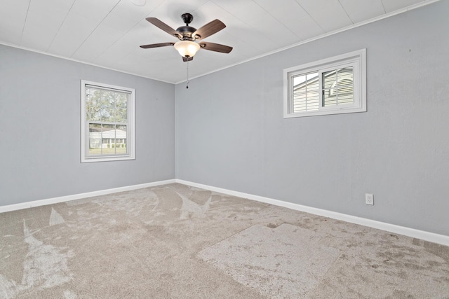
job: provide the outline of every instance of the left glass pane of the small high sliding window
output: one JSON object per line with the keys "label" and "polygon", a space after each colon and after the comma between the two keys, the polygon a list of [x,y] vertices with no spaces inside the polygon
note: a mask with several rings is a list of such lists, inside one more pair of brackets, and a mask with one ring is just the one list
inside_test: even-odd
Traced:
{"label": "left glass pane of the small high sliding window", "polygon": [[318,72],[293,77],[293,113],[319,109]]}

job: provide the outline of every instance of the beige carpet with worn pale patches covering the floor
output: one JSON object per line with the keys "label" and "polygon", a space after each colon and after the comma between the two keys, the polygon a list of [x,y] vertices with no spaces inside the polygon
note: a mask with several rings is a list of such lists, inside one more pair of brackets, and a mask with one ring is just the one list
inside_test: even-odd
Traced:
{"label": "beige carpet with worn pale patches covering the floor", "polygon": [[0,214],[0,298],[449,298],[449,247],[170,184]]}

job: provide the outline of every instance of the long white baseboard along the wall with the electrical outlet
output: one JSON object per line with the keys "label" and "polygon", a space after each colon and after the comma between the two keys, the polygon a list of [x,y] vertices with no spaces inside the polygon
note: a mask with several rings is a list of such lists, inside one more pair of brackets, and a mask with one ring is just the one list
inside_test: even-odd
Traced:
{"label": "long white baseboard along the wall with the electrical outlet", "polygon": [[193,183],[191,181],[184,181],[180,179],[175,179],[176,183],[182,183],[184,185],[206,189],[210,191],[215,191],[217,193],[223,193],[227,195],[233,195],[237,197],[243,197],[248,200],[256,200],[257,202],[264,202],[267,204],[273,204],[279,207],[286,207],[288,209],[294,209],[297,211],[304,211],[306,213],[315,214],[319,216],[324,216],[328,218],[333,218],[341,221],[346,221],[350,223],[355,223],[359,225],[368,226],[370,228],[377,228],[378,230],[386,230],[387,232],[394,232],[399,235],[406,235],[408,237],[414,237],[417,239],[423,239],[425,241],[442,244],[445,246],[449,246],[449,236],[446,235],[438,235],[434,232],[426,232],[424,230],[415,230],[414,228],[406,228],[404,226],[394,225],[390,223],[384,223],[380,221],[370,220],[367,218],[361,218],[356,216],[351,216],[347,214],[337,213],[335,211],[327,211],[325,209],[317,209],[314,207],[307,207],[301,204],[293,204],[291,202],[283,202],[282,200],[274,200],[268,197],[262,197],[258,195],[252,195],[248,193],[242,193],[238,191],[217,188],[213,186],[203,185],[201,183]]}

